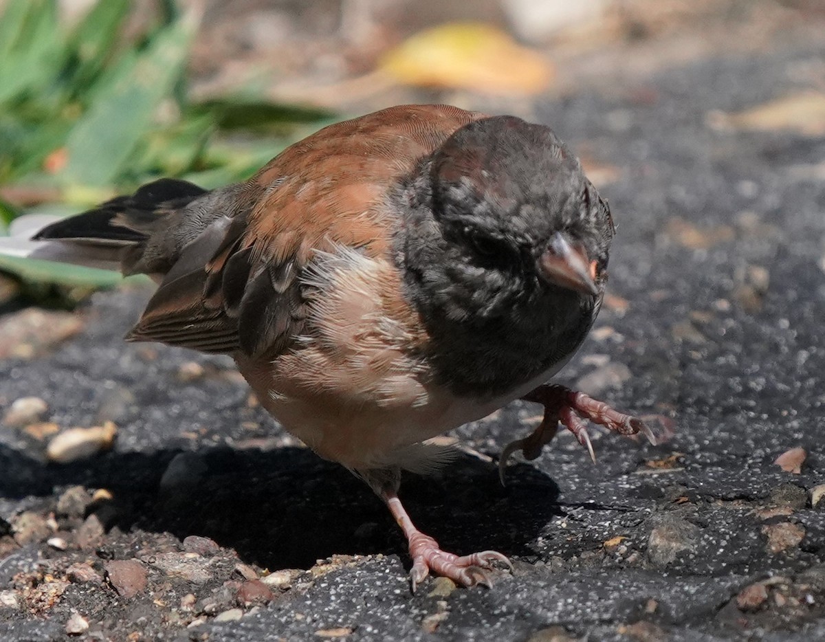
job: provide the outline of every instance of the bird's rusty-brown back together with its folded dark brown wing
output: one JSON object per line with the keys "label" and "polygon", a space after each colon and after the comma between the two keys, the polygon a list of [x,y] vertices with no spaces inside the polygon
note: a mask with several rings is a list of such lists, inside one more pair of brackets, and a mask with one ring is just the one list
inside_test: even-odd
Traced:
{"label": "bird's rusty-brown back together with its folded dark brown wing", "polygon": [[[320,130],[236,192],[231,223],[181,252],[128,338],[275,356],[303,331],[301,271],[333,243],[389,251],[389,187],[463,125],[450,106],[398,106]],[[236,205],[238,203],[236,202]]]}

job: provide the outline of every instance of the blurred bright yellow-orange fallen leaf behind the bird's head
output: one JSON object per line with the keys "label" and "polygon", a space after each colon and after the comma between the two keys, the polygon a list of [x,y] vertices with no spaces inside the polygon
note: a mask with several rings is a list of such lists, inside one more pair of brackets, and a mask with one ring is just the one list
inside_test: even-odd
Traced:
{"label": "blurred bright yellow-orange fallen leaf behind the bird's head", "polygon": [[448,23],[422,31],[390,51],[380,67],[399,82],[478,92],[538,93],[554,71],[540,54],[479,23]]}

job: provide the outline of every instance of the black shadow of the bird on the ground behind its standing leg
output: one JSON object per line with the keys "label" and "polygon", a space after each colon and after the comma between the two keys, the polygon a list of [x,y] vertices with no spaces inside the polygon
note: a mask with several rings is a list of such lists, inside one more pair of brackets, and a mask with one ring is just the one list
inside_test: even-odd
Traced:
{"label": "black shadow of the bird on the ground behind its standing leg", "polygon": [[[207,536],[268,569],[307,569],[335,554],[406,559],[403,536],[366,485],[302,448],[115,451],[54,465],[0,444],[0,470],[0,498],[54,502],[69,485],[105,488],[108,528]],[[530,556],[531,542],[562,514],[559,487],[525,464],[511,465],[507,481],[502,487],[495,465],[461,455],[436,476],[406,476],[400,496],[446,550]]]}

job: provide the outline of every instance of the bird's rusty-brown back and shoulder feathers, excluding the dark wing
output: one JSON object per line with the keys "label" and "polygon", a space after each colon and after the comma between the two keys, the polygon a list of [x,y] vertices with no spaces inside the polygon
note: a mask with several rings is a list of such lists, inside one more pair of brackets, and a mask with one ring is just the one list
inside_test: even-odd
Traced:
{"label": "bird's rusty-brown back and shoulder feathers, excluding the dark wing", "polygon": [[318,131],[252,177],[262,197],[249,215],[245,244],[275,260],[306,261],[329,241],[384,253],[389,228],[378,210],[390,186],[482,117],[454,106],[394,106]]}

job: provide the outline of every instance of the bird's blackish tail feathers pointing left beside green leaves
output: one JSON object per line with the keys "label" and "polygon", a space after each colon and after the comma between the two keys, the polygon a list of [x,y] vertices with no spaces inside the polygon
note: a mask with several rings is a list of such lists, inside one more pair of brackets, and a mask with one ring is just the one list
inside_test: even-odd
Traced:
{"label": "bird's blackish tail feathers pointing left beside green leaves", "polygon": [[38,244],[29,256],[94,267],[106,264],[131,273],[130,264],[167,216],[205,193],[173,178],[148,183],[132,196],[117,196],[94,210],[46,225],[31,240],[52,243]]}

